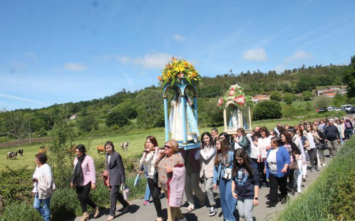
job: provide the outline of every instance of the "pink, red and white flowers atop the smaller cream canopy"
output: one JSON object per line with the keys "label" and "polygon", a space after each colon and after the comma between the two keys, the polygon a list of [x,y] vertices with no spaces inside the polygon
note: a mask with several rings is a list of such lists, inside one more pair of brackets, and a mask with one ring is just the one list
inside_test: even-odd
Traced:
{"label": "pink, red and white flowers atop the smaller cream canopy", "polygon": [[250,96],[245,95],[241,86],[235,84],[230,86],[224,97],[220,97],[218,99],[217,106],[223,107],[223,104],[231,98],[233,98],[234,104],[241,108],[243,108],[245,104],[247,104],[246,106],[253,105],[252,98]]}

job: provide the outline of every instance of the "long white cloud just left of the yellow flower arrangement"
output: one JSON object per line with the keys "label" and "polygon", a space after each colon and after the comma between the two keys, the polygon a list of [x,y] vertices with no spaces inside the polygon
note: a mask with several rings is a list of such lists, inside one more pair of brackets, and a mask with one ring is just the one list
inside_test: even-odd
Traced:
{"label": "long white cloud just left of the yellow flower arrangement", "polygon": [[121,64],[141,65],[148,69],[162,69],[172,55],[166,53],[145,54],[143,57],[131,58],[129,56],[119,56],[117,59]]}

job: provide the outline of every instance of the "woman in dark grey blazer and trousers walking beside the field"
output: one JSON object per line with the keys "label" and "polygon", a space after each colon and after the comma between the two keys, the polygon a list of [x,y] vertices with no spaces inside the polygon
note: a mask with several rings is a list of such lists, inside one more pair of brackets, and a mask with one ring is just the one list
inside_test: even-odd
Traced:
{"label": "woman in dark grey blazer and trousers walking beside the field", "polygon": [[129,203],[124,200],[122,194],[119,192],[120,185],[126,181],[125,168],[122,163],[121,155],[115,151],[115,146],[111,141],[105,143],[106,165],[109,173],[109,182],[111,188],[111,210],[110,216],[107,220],[113,220],[116,212],[116,201],[118,200],[124,207],[123,213],[128,211]]}

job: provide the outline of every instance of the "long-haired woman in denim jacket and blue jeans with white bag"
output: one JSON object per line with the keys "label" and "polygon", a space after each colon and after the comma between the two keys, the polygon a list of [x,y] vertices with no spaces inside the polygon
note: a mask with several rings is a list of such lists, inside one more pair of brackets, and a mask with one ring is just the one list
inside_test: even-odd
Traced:
{"label": "long-haired woman in denim jacket and blue jeans with white bag", "polygon": [[[214,160],[213,189],[219,185],[220,204],[224,221],[234,221],[236,199],[232,196],[233,152],[229,150],[228,141],[219,138],[216,141],[217,153]],[[218,184],[217,184],[218,183]]]}

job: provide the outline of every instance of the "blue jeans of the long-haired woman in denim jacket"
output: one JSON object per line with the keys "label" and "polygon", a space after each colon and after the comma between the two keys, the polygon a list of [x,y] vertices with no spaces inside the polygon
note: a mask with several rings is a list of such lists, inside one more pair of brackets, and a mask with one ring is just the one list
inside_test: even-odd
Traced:
{"label": "blue jeans of the long-haired woman in denim jacket", "polygon": [[223,220],[235,221],[234,211],[236,199],[232,196],[232,179],[219,179],[219,195]]}

